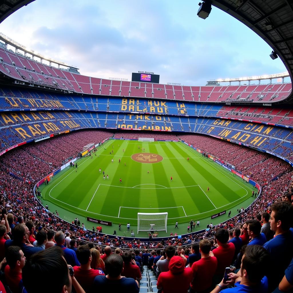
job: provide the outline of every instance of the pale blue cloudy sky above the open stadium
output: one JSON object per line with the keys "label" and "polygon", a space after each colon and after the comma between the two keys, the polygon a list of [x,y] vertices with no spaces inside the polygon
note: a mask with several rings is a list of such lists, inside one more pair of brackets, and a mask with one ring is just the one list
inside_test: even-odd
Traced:
{"label": "pale blue cloudy sky above the open stadium", "polygon": [[199,86],[287,71],[280,58],[270,58],[271,47],[232,16],[212,6],[207,19],[199,18],[198,2],[36,0],[6,18],[0,31],[105,79],[151,71],[160,83]]}

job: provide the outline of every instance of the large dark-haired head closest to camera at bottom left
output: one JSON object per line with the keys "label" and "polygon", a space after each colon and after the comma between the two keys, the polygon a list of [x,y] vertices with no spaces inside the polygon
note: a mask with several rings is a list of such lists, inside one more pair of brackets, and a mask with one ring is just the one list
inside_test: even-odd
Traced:
{"label": "large dark-haired head closest to camera at bottom left", "polygon": [[[45,286],[44,276],[50,280]],[[43,293],[70,293],[72,282],[62,249],[53,246],[33,254],[22,270],[22,280],[28,293],[38,293],[40,288]]]}

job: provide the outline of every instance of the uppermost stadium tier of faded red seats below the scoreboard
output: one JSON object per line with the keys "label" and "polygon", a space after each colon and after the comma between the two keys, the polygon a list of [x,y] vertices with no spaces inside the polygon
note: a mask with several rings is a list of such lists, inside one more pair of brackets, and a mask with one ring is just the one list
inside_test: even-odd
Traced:
{"label": "uppermost stadium tier of faded red seats below the scoreboard", "polygon": [[292,84],[173,86],[144,82],[111,81],[50,67],[4,48],[0,48],[0,71],[17,80],[76,93],[103,96],[212,103],[275,103],[286,99],[292,91]]}

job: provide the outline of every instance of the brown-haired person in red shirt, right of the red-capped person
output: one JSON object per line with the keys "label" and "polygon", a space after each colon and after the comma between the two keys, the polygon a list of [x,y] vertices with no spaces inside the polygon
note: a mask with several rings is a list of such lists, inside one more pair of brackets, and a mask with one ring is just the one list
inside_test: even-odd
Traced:
{"label": "brown-haired person in red shirt, right of the red-capped person", "polygon": [[212,279],[217,270],[218,261],[214,256],[210,256],[211,243],[204,239],[200,241],[201,259],[194,262],[191,269],[193,280],[190,283],[190,293],[210,292]]}

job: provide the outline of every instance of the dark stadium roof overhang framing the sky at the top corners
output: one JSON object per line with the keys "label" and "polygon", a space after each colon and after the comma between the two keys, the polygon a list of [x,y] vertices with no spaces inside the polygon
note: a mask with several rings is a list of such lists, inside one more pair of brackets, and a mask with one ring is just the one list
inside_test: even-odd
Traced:
{"label": "dark stadium roof overhang framing the sky at the top corners", "polygon": [[[34,0],[4,0],[0,23],[14,11]],[[277,53],[293,83],[293,1],[292,0],[205,0],[235,17],[257,33]],[[212,17],[212,13],[210,15]],[[253,54],[253,44],[251,44]],[[268,52],[270,54],[270,52]],[[293,93],[286,101],[293,101]]]}

